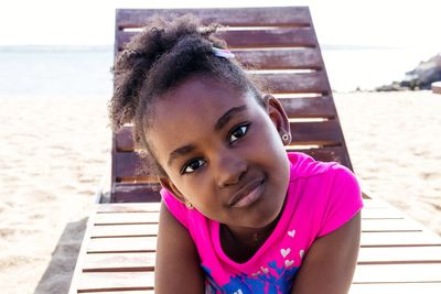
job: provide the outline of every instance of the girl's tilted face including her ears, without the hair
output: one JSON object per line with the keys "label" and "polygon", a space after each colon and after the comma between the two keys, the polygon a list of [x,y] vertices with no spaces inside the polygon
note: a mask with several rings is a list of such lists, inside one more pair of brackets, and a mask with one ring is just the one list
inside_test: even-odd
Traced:
{"label": "girl's tilted face including her ears, without the hair", "polygon": [[229,227],[263,228],[280,214],[289,181],[287,116],[251,94],[193,76],[157,101],[148,138],[162,185]]}

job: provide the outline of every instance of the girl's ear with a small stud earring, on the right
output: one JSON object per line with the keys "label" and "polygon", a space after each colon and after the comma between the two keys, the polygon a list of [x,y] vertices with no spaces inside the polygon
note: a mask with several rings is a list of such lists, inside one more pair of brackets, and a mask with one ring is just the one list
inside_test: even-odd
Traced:
{"label": "girl's ear with a small stud earring, on the right", "polygon": [[[291,128],[290,123],[288,120],[287,112],[284,112],[284,109],[280,101],[276,99],[271,95],[266,95],[263,97],[263,102],[265,107],[267,110],[267,113],[269,118],[271,119],[272,123],[275,124],[277,131],[280,134],[280,138],[283,137],[283,134],[289,135],[289,141],[291,141]],[[286,140],[282,140],[283,143],[287,143]],[[288,142],[289,144],[289,142]]]}

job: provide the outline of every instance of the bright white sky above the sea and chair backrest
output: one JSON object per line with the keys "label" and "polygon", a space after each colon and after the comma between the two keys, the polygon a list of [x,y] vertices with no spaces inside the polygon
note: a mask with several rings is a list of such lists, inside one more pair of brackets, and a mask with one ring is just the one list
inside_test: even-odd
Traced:
{"label": "bright white sky above the sea and chair backrest", "polygon": [[[239,1],[151,2],[1,0],[0,45],[110,45],[116,8],[235,7]],[[240,6],[309,6],[319,41],[324,44],[441,51],[440,0],[240,0]]]}

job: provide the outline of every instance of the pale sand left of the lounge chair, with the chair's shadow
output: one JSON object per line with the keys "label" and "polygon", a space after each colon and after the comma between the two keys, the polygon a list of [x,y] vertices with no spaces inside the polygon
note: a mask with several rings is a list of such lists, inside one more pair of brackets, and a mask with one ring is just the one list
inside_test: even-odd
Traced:
{"label": "pale sand left of the lounge chair, with the chair's shadow", "polygon": [[0,292],[67,293],[108,159],[106,100],[0,104]]}

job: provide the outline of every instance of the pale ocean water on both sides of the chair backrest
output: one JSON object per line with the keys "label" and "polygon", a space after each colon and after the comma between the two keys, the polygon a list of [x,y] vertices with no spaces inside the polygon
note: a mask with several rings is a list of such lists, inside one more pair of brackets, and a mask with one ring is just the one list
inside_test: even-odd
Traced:
{"label": "pale ocean water on both sides of the chair backrest", "polygon": [[[366,48],[322,45],[331,86],[373,89],[400,80],[438,52],[430,48]],[[110,97],[112,47],[0,47],[1,97]]]}

